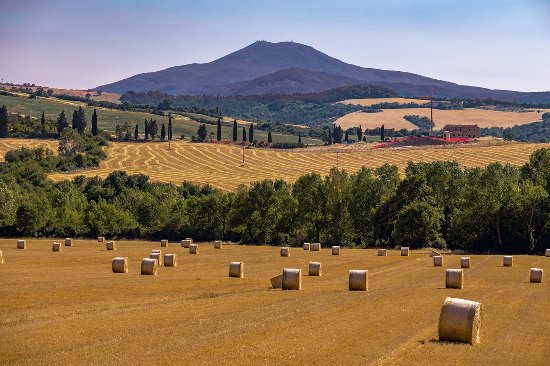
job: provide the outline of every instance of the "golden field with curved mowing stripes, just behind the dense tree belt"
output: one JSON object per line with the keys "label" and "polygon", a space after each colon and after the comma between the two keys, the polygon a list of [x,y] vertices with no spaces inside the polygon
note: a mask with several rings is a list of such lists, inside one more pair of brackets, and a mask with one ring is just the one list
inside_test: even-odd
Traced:
{"label": "golden field with curved mowing stripes, just behind the dense tree belt", "polygon": [[[529,155],[546,144],[511,143],[497,146],[480,144],[453,147],[368,149],[338,154],[338,166],[355,172],[361,166],[376,168],[384,163],[397,165],[401,172],[408,161],[431,162],[435,160],[457,161],[466,167],[485,166],[500,161],[522,165]],[[270,178],[282,178],[293,182],[309,172],[328,174],[336,166],[336,150],[290,150],[245,149],[245,165],[242,149],[230,145],[193,144],[182,141],[172,143],[111,143],[107,148],[108,158],[99,169],[73,174],[53,174],[54,180],[72,179],[76,175],[106,177],[113,170],[126,170],[129,174],[143,173],[152,180],[180,184],[187,180],[193,183],[209,183],[214,187],[232,191],[239,184]]]}

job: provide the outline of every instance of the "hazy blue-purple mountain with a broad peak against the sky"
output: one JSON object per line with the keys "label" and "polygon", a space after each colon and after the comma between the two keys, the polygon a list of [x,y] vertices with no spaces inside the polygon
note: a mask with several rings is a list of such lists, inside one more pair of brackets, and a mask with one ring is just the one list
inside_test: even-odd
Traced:
{"label": "hazy blue-purple mountain with a broad peak against the sky", "polygon": [[138,74],[96,90],[124,93],[158,90],[173,95],[292,94],[370,83],[403,96],[494,98],[550,102],[550,92],[523,93],[458,85],[402,71],[364,68],[294,42],[255,42],[204,64]]}

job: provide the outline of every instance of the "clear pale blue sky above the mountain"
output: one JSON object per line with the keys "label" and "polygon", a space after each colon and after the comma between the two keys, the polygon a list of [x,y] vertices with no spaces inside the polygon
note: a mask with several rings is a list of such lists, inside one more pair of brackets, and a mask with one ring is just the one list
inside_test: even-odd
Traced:
{"label": "clear pale blue sky above the mountain", "polygon": [[88,89],[257,41],[491,89],[550,90],[550,0],[0,0],[0,78]]}

